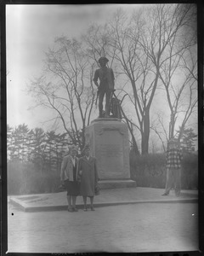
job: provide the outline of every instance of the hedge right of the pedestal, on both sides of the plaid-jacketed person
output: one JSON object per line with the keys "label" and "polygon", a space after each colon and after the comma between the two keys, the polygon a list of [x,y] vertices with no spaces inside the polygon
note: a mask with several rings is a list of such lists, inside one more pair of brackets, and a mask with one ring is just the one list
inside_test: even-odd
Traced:
{"label": "hedge right of the pedestal, on both sides of the plaid-jacketed person", "polygon": [[[165,188],[165,154],[130,155],[131,178],[139,187]],[[181,168],[181,188],[198,188],[198,158],[196,154],[184,154]]]}

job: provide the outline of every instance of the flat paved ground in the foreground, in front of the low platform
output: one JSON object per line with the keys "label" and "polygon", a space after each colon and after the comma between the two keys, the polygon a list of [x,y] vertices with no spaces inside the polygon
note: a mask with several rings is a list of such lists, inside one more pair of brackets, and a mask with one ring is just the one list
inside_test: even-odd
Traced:
{"label": "flat paved ground in the foreground, in front of the low platform", "polygon": [[197,203],[139,203],[83,212],[23,212],[8,203],[8,252],[198,251]]}

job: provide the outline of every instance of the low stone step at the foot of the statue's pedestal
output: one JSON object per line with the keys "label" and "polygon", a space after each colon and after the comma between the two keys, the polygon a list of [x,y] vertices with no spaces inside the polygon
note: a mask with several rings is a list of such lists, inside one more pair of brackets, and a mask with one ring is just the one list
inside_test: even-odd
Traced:
{"label": "low stone step at the foot of the statue's pedestal", "polygon": [[136,182],[132,179],[117,179],[117,180],[100,180],[100,189],[123,189],[123,188],[135,188]]}

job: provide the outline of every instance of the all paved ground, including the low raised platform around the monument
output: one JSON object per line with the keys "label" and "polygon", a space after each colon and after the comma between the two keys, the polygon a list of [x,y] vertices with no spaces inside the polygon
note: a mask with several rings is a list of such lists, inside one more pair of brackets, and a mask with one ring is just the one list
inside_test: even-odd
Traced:
{"label": "all paved ground, including the low raised platform around the monument", "polygon": [[79,211],[67,212],[66,192],[9,196],[8,252],[197,251],[197,191],[182,191],[180,197],[162,193],[101,190],[94,197],[95,212],[82,211],[81,196]]}

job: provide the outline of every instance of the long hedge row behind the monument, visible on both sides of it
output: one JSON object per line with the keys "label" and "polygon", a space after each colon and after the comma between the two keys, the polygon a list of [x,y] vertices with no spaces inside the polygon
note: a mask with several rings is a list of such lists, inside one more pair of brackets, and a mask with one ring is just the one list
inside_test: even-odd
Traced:
{"label": "long hedge row behind the monument, visible on both sides of it", "polygon": [[[131,178],[139,187],[164,188],[166,183],[165,154],[130,154]],[[182,189],[197,189],[197,155],[184,155],[182,161]],[[60,185],[59,172],[40,172],[33,164],[8,162],[8,195],[54,193]]]}

